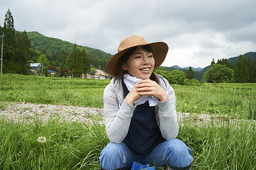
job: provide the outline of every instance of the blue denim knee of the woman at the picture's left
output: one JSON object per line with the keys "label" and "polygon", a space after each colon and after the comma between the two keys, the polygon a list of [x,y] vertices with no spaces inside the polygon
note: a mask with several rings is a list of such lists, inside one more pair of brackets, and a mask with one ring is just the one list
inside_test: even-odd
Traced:
{"label": "blue denim knee of the woman at the picture's left", "polygon": [[99,161],[103,169],[122,168],[126,162],[125,146],[123,143],[108,143],[100,153]]}

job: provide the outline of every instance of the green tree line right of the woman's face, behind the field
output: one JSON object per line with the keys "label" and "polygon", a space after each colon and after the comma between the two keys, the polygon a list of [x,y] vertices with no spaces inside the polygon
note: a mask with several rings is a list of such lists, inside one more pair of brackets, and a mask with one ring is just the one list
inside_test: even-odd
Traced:
{"label": "green tree line right of the woman's face, behind the field", "polygon": [[195,73],[191,67],[188,70],[166,70],[165,67],[158,67],[155,72],[164,76],[170,84],[195,85],[199,82],[207,83],[256,83],[256,58],[251,60],[240,55],[233,64],[228,59],[214,59],[208,70],[202,73],[202,79],[195,79]]}

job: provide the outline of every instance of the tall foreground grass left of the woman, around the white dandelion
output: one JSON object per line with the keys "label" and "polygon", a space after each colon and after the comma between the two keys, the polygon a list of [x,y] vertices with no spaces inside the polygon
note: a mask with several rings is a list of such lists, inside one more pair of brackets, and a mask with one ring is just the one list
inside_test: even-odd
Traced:
{"label": "tall foreground grass left of the woman, around the white dandelion", "polygon": [[[87,126],[60,117],[43,122],[36,114],[18,124],[2,119],[0,169],[99,169],[99,153],[108,139],[104,127],[92,119],[94,124]],[[47,138],[43,155],[39,136]]]}

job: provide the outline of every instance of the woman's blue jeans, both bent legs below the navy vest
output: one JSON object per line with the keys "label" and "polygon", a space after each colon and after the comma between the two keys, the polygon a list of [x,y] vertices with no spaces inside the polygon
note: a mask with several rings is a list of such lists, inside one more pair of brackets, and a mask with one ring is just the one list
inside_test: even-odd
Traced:
{"label": "woman's blue jeans, both bent legs below the navy vest", "polygon": [[150,164],[156,167],[188,167],[193,161],[191,150],[179,139],[165,141],[148,154],[140,155],[130,150],[124,143],[108,143],[99,157],[103,169],[129,169],[132,162]]}

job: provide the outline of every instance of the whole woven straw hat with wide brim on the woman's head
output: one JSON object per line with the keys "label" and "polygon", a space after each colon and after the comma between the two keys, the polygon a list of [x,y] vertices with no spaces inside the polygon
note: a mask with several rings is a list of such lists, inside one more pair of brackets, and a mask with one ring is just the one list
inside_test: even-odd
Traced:
{"label": "whole woven straw hat with wide brim on the woman's head", "polygon": [[117,53],[110,58],[110,61],[108,61],[106,70],[107,73],[116,76],[119,72],[119,66],[118,61],[119,59],[128,52],[129,49],[132,49],[136,46],[145,46],[150,45],[153,51],[153,57],[155,60],[154,69],[156,69],[158,66],[162,64],[162,62],[165,60],[166,54],[168,52],[168,45],[165,42],[151,42],[148,43],[146,40],[141,36],[129,36],[125,38],[123,41],[121,41],[120,45],[117,48]]}

